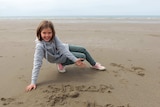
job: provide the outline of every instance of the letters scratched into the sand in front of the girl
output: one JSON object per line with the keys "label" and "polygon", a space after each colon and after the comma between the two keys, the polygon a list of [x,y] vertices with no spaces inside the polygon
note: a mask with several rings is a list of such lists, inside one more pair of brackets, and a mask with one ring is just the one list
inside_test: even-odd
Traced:
{"label": "letters scratched into the sand in front of the girl", "polygon": [[[47,99],[47,104],[49,106],[66,105],[70,98],[77,98],[82,95],[84,92],[98,92],[98,93],[112,93],[112,85],[101,84],[99,86],[95,85],[62,85],[57,87],[55,85],[48,85],[47,90],[43,90],[43,93],[46,93],[45,99]],[[87,106],[88,107],[88,106]]]}

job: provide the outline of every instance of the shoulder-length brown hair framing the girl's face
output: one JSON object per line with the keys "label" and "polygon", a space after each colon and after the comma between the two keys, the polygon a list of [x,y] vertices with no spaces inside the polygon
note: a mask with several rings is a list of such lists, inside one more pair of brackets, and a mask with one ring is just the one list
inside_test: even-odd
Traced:
{"label": "shoulder-length brown hair framing the girl's face", "polygon": [[51,21],[48,21],[48,20],[44,20],[42,21],[39,26],[37,27],[37,38],[38,40],[42,41],[42,37],[41,37],[41,32],[43,29],[45,28],[51,28],[52,30],[52,38],[51,40],[53,39],[53,37],[55,36],[55,30],[54,30],[54,26],[53,26],[53,23]]}

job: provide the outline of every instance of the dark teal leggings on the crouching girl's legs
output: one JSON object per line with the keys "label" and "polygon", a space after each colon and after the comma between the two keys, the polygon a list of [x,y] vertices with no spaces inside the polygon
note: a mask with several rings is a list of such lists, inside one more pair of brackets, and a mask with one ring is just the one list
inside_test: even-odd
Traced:
{"label": "dark teal leggings on the crouching girl's legs", "polygon": [[[77,58],[86,59],[92,66],[96,64],[94,59],[84,47],[69,45],[69,51]],[[70,64],[74,64],[74,62],[68,58],[65,63],[62,63],[63,66]]]}

